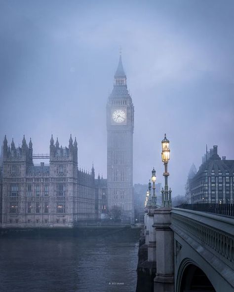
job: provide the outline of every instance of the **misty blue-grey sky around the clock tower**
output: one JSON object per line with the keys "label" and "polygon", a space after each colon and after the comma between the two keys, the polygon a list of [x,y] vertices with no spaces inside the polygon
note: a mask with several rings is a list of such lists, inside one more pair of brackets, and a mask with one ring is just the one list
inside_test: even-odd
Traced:
{"label": "misty blue-grey sky around the clock tower", "polygon": [[[119,46],[135,107],[134,183],[171,146],[169,186],[184,194],[205,145],[234,159],[234,1],[0,0],[0,139],[48,153],[78,140],[78,166],[107,173],[106,103]],[[38,161],[36,161],[38,162]]]}

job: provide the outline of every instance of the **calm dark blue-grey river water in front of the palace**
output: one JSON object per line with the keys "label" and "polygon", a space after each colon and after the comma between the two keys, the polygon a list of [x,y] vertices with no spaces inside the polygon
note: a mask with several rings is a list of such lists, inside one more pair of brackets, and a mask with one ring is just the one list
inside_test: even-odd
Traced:
{"label": "calm dark blue-grey river water in front of the palace", "polygon": [[135,292],[138,240],[110,236],[0,240],[1,292]]}

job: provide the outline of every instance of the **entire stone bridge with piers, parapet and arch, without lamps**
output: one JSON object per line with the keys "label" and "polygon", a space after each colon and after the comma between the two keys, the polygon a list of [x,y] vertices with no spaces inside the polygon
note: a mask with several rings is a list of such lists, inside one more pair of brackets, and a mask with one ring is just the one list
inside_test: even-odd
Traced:
{"label": "entire stone bridge with piers, parapet and arch, without lamps", "polygon": [[148,291],[234,292],[233,205],[179,207],[146,208],[138,274]]}

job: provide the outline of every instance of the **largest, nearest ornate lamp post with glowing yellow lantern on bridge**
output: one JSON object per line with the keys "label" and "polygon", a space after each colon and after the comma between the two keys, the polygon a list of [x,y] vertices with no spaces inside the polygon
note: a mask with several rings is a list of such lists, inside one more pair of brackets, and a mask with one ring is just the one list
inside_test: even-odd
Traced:
{"label": "largest, nearest ornate lamp post with glowing yellow lantern on bridge", "polygon": [[164,163],[165,171],[163,173],[163,177],[165,178],[164,189],[162,188],[162,207],[171,207],[171,189],[168,191],[168,177],[169,173],[167,172],[167,164],[170,159],[170,148],[169,148],[169,140],[166,139],[166,134],[164,139],[162,140],[162,162]]}

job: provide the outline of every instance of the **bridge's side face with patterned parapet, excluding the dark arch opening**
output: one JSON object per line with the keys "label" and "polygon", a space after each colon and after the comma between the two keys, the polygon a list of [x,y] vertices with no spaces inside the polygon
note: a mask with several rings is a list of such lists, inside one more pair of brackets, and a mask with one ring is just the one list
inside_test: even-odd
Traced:
{"label": "bridge's side face with patterned parapet, excluding the dark arch opening", "polygon": [[234,288],[234,218],[185,208],[172,208],[171,215],[175,262],[180,265],[181,259],[192,256],[196,262],[200,258]]}

